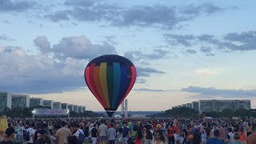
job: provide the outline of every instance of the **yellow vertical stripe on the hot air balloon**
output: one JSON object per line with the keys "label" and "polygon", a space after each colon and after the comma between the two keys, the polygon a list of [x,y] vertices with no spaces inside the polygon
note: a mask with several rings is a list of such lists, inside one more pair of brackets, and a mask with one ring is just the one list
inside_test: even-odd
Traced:
{"label": "yellow vertical stripe on the hot air balloon", "polygon": [[99,78],[102,85],[102,92],[104,95],[104,98],[106,100],[106,105],[110,107],[110,100],[109,100],[109,93],[107,90],[107,80],[106,80],[106,62],[102,62],[101,66],[99,67]]}

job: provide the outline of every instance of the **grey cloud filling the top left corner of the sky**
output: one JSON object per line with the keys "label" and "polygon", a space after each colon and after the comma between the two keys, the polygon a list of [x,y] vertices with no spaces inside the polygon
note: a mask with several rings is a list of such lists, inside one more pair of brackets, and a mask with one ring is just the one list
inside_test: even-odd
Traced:
{"label": "grey cloud filling the top left corner of the sky", "polygon": [[10,0],[1,0],[0,1],[0,12],[21,12],[32,8],[36,2],[28,1],[10,1]]}

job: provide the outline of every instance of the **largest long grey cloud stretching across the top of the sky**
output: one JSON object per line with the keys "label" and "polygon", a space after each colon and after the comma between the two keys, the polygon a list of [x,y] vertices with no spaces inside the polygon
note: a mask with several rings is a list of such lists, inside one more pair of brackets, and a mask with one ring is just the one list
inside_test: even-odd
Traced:
{"label": "largest long grey cloud stretching across the top of the sky", "polygon": [[115,6],[100,1],[67,0],[71,9],[46,14],[53,22],[74,18],[78,21],[105,22],[110,26],[162,26],[173,28],[179,22],[188,21],[200,14],[213,14],[222,8],[211,3],[199,6]]}

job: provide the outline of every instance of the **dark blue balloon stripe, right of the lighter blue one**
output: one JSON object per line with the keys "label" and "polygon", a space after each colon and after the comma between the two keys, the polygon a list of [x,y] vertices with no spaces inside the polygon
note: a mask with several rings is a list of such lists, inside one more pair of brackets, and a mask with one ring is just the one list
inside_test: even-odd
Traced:
{"label": "dark blue balloon stripe, right of the lighter blue one", "polygon": [[126,92],[126,85],[127,85],[127,67],[126,66],[121,66],[121,82],[120,82],[120,88],[119,88],[119,92],[118,92],[118,98],[117,101],[115,102],[115,106],[117,107],[118,104],[122,101],[122,97],[124,96],[125,92]]}

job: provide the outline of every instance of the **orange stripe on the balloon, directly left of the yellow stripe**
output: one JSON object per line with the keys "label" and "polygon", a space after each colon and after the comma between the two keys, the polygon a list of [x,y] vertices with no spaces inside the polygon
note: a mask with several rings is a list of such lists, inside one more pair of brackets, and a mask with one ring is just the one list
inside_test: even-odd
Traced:
{"label": "orange stripe on the balloon, directly left of the yellow stripe", "polygon": [[99,97],[102,99],[102,103],[104,104],[104,108],[107,107],[106,105],[106,99],[104,97],[104,94],[102,93],[102,85],[101,85],[101,82],[100,82],[100,79],[99,79],[99,66],[94,66],[94,82],[95,82],[95,86],[96,86],[96,89],[98,90],[98,94],[99,94]]}

